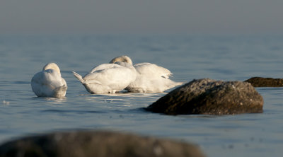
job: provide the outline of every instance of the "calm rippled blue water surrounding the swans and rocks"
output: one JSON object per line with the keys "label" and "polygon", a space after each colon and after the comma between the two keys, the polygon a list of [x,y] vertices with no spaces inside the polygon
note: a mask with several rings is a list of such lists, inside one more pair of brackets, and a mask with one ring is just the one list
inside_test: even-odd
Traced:
{"label": "calm rippled blue water surrounding the swans and rocks", "polygon": [[[283,88],[257,88],[262,114],[168,116],[145,112],[168,93],[91,95],[71,71],[126,54],[170,69],[174,81],[283,78],[283,36],[0,35],[0,141],[68,129],[110,129],[189,141],[207,156],[282,156]],[[30,79],[56,62],[66,98],[37,98]]]}

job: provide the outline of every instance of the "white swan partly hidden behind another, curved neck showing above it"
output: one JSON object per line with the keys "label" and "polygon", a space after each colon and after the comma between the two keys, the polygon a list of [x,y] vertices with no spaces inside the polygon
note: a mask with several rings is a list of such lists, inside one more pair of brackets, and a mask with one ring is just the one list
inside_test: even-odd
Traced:
{"label": "white swan partly hidden behind another, curved neck showing above it", "polygon": [[[127,56],[115,57],[110,63],[127,62],[132,64],[132,59]],[[137,79],[125,88],[129,92],[150,93],[163,92],[175,86],[183,84],[169,79],[171,71],[156,64],[139,63],[134,64],[137,71]]]}

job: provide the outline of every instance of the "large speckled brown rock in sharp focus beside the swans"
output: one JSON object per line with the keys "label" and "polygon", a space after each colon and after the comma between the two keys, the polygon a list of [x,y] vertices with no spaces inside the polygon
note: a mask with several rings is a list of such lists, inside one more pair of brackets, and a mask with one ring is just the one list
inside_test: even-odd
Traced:
{"label": "large speckled brown rock in sharp focus beside the swans", "polygon": [[250,83],[199,79],[163,96],[146,110],[167,115],[231,115],[262,112],[262,96]]}

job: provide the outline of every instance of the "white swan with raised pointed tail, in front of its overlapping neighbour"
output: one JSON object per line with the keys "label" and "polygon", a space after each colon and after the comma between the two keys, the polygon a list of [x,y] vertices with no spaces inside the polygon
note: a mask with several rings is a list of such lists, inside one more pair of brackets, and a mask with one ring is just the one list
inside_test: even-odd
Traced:
{"label": "white swan with raised pointed tail, in front of its overlapping neighbour", "polygon": [[101,64],[85,76],[73,71],[74,76],[92,94],[116,93],[125,89],[137,77],[131,64]]}

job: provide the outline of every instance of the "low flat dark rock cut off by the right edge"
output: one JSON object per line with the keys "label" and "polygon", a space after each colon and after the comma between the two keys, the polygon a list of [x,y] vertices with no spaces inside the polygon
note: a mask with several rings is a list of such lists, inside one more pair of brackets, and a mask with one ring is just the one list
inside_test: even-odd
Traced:
{"label": "low flat dark rock cut off by the right edge", "polygon": [[245,82],[254,87],[283,87],[283,79],[252,77]]}

